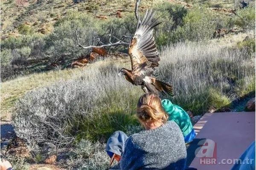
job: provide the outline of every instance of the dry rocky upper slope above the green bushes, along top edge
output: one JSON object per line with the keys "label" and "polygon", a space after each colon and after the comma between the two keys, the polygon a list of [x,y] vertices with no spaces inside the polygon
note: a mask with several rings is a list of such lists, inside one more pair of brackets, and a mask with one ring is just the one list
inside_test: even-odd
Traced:
{"label": "dry rocky upper slope above the green bushes, along top edge", "polygon": [[[33,32],[38,34],[47,34],[52,31],[53,24],[61,17],[66,16],[67,11],[74,9],[83,13],[93,14],[94,17],[101,19],[100,16],[118,17],[121,15],[133,13],[135,3],[132,0],[85,0],[85,2],[74,3],[74,0],[29,0],[24,6],[16,3],[19,0],[1,1],[1,39],[6,37],[17,37],[22,35],[18,27],[22,24],[31,26]],[[20,0],[22,1],[22,0]],[[188,3],[178,0],[149,0],[141,1],[139,11],[146,8],[152,8],[157,3],[170,2],[180,4],[187,8],[193,5],[206,5],[209,8],[235,9],[238,2],[233,0],[213,0],[213,1],[188,1]],[[250,2],[253,3],[253,2]],[[219,10],[221,11],[221,10]],[[225,13],[225,11],[222,11]],[[229,12],[226,12],[228,14]]]}

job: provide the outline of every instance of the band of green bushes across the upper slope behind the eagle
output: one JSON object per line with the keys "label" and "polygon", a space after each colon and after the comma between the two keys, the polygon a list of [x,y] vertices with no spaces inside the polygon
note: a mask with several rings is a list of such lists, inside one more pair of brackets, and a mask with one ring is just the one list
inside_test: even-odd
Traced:
{"label": "band of green bushes across the upper slope behind the eagle", "polygon": [[[130,3],[127,2],[127,4]],[[47,7],[49,4],[41,5]],[[252,6],[247,9],[239,9],[237,15],[231,17],[213,12],[206,6],[199,6],[197,3],[189,8],[183,4],[156,3],[155,1],[149,4],[142,2],[141,6],[143,5],[154,5],[153,9],[157,12],[156,17],[159,17],[159,21],[162,22],[154,32],[158,46],[185,41],[209,40],[213,37],[216,29],[230,29],[233,26],[239,26],[244,30],[250,30],[255,25],[253,23],[255,22],[255,9]],[[74,30],[78,31],[79,41],[84,46],[108,43],[109,34],[113,36],[111,41],[115,42],[123,35],[132,36],[135,31],[134,9],[131,11],[132,13],[123,12],[122,18],[108,17],[106,20],[99,20],[95,17],[94,12],[90,12],[101,11],[102,6],[99,6],[99,3],[87,4],[85,2],[79,3],[78,6],[81,9],[86,6],[85,9],[88,9],[88,13],[71,8],[60,17],[58,11],[51,11],[49,17],[57,16],[58,20],[54,20],[55,23],[52,23],[54,28],[52,31],[48,31],[48,34],[38,33],[42,29],[47,32],[48,27],[51,27],[49,23],[42,25],[45,18],[38,18],[41,25],[38,31],[35,27],[39,25],[39,21],[35,21],[34,24],[27,21],[19,22],[16,27],[20,36],[6,39],[3,37],[1,52],[4,54],[5,64],[1,69],[1,81],[15,78],[18,75],[47,71],[47,65],[50,63],[57,63],[61,65],[60,68],[66,68],[72,60],[87,55],[91,49],[85,50],[77,46]],[[89,7],[87,8],[87,6]],[[25,9],[35,12],[33,8],[43,8],[43,6],[33,4],[31,9]],[[131,4],[128,5],[128,8],[131,8]],[[42,17],[42,15],[38,17]],[[100,41],[97,38],[100,38]],[[129,43],[130,39],[126,38],[124,41]],[[123,49],[125,49],[123,46],[107,48],[108,51]]]}

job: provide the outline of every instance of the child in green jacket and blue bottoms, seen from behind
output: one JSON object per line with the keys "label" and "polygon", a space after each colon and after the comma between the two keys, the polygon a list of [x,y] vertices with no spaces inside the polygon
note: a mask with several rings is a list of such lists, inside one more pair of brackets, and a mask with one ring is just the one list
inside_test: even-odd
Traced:
{"label": "child in green jacket and blue bottoms, seen from behind", "polygon": [[167,99],[162,100],[162,105],[169,115],[169,121],[174,121],[180,127],[185,143],[191,142],[196,134],[187,112]]}

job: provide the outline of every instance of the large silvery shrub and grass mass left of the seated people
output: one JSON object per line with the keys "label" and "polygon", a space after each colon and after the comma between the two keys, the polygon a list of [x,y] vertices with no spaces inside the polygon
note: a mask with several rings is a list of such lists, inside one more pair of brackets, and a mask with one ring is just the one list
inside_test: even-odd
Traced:
{"label": "large silvery shrub and grass mass left of the seated people", "polygon": [[131,115],[143,91],[119,78],[118,71],[99,65],[81,78],[27,93],[17,102],[15,132],[33,148],[40,142],[70,145],[81,138],[106,141],[116,130],[126,132],[128,125],[138,124]]}

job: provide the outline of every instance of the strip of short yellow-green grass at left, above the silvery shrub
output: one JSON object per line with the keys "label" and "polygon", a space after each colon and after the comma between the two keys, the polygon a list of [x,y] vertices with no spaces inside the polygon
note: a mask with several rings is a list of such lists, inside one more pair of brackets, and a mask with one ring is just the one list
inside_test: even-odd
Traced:
{"label": "strip of short yellow-green grass at left, above the silvery shrub", "polygon": [[[109,61],[105,61],[108,63]],[[26,92],[43,86],[49,86],[59,80],[69,80],[79,77],[93,66],[84,69],[64,69],[35,73],[28,76],[21,76],[11,81],[1,82],[1,120],[11,120],[11,113],[14,111],[14,105],[18,98]]]}

